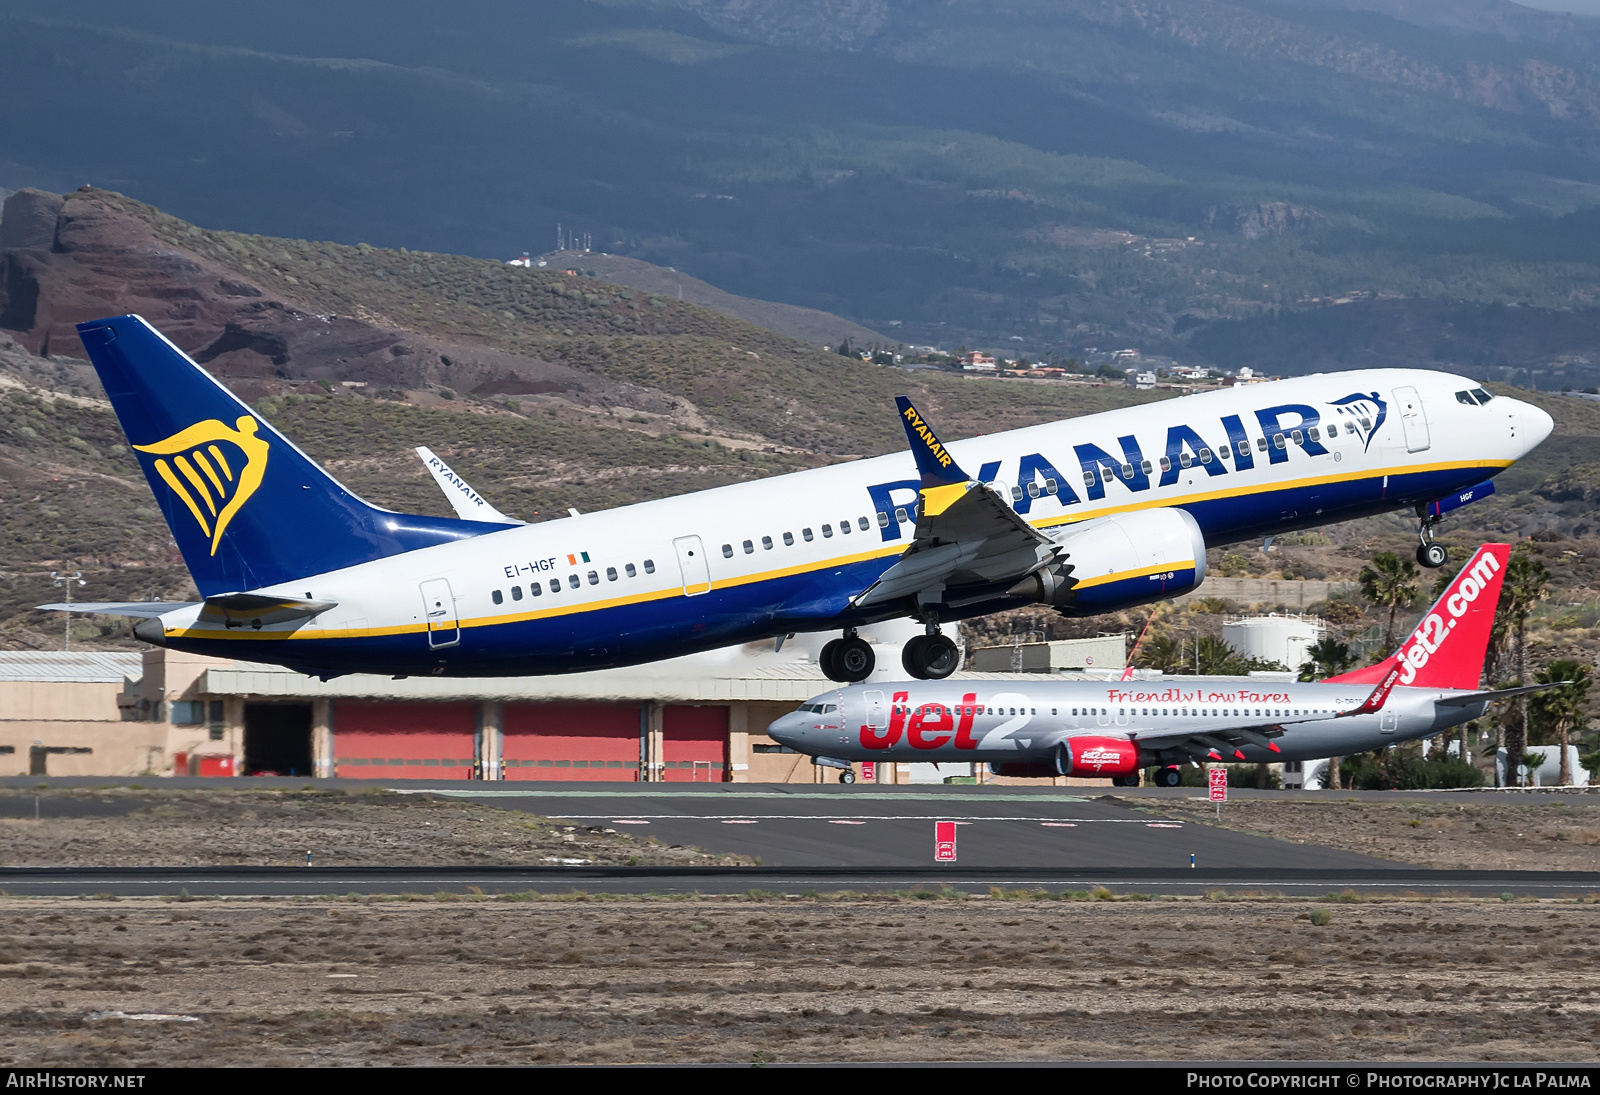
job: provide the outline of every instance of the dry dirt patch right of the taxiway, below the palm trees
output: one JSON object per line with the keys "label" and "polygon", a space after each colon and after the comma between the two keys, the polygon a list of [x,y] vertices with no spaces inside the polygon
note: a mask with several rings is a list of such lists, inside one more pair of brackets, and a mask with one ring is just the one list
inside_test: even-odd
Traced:
{"label": "dry dirt patch right of the taxiway, below the palm trees", "polygon": [[[1203,799],[1125,805],[1218,824]],[[1600,871],[1600,797],[1437,796],[1437,799],[1234,799],[1222,828],[1320,844],[1429,868],[1514,871]]]}

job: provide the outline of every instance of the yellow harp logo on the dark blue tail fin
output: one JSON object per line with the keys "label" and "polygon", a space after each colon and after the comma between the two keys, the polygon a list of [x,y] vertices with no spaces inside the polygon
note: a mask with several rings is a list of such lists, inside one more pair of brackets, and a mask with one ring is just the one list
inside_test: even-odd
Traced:
{"label": "yellow harp logo on the dark blue tail fin", "polygon": [[[256,437],[256,419],[240,415],[235,424],[238,429],[229,429],[208,418],[154,445],[134,445],[157,456],[155,474],[189,506],[200,530],[211,538],[213,556],[227,522],[267,474],[270,445]],[[160,459],[163,456],[171,461]]]}

